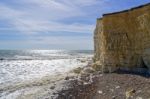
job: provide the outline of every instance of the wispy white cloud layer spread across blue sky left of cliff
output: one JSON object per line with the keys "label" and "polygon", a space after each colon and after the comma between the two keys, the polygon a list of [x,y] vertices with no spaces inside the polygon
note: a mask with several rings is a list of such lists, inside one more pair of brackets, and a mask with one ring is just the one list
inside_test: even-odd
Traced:
{"label": "wispy white cloud layer spread across blue sky left of cliff", "polygon": [[[11,27],[0,27],[0,31],[20,31],[27,34],[23,40],[0,41],[0,47],[11,48],[61,48],[92,49],[92,37],[44,36],[50,32],[70,32],[92,34],[95,24],[75,22],[77,17],[87,17],[87,6],[93,6],[99,0],[14,0],[15,5],[0,3],[0,20],[7,20]],[[21,7],[20,5],[23,5]],[[68,19],[72,22],[64,22]],[[62,21],[63,20],[63,21]],[[0,32],[1,33],[1,32]],[[36,34],[43,35],[37,37]],[[45,45],[45,46],[44,46]]]}

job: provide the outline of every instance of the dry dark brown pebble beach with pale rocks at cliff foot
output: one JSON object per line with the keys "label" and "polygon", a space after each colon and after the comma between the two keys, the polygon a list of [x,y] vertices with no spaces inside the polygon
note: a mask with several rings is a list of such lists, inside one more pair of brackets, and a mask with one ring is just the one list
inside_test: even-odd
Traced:
{"label": "dry dark brown pebble beach with pale rocks at cliff foot", "polygon": [[[94,71],[90,65],[78,76],[67,76],[52,99],[150,99],[150,74],[126,70]],[[51,99],[47,97],[46,99]]]}

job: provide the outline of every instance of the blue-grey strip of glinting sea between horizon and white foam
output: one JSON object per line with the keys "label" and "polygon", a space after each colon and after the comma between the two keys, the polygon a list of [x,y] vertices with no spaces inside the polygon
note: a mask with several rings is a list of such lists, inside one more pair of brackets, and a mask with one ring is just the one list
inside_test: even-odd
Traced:
{"label": "blue-grey strip of glinting sea between horizon and white foam", "polygon": [[3,60],[52,60],[83,58],[92,55],[92,51],[64,50],[0,50],[0,61]]}

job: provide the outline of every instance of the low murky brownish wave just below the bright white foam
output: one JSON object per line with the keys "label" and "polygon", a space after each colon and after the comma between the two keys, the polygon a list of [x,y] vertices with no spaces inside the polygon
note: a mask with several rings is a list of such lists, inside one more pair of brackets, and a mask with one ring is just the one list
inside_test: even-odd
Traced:
{"label": "low murky brownish wave just below the bright white foam", "polygon": [[[40,79],[32,79],[32,80],[28,80],[25,82],[16,82],[16,83],[11,83],[11,84],[6,83],[3,85],[0,85],[0,99],[8,99],[7,97],[9,97],[10,94],[12,95],[14,94],[15,96],[16,91],[18,92],[18,95],[22,95],[23,92],[28,88],[30,89],[35,88],[35,87],[42,88],[43,86],[47,86],[55,82],[58,82],[60,80],[63,80],[65,76],[66,74],[49,75],[49,76],[42,77]],[[21,90],[24,90],[24,91],[21,91]]]}

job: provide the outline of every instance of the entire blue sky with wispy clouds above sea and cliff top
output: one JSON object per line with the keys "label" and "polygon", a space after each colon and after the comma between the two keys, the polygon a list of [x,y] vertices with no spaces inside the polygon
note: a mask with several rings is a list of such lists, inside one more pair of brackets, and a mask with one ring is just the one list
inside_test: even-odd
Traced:
{"label": "entire blue sky with wispy clouds above sea and cliff top", "polygon": [[96,19],[150,0],[0,0],[0,49],[93,49]]}

